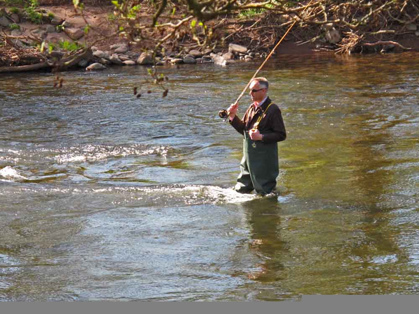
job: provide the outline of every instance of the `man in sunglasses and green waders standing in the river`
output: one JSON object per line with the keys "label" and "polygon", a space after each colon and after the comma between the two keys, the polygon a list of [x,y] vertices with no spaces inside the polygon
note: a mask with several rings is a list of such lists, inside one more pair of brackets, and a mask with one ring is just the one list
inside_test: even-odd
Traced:
{"label": "man in sunglasses and green waders standing in the river", "polygon": [[249,85],[253,103],[243,119],[237,117],[237,104],[228,107],[230,124],[244,135],[243,158],[235,190],[266,195],[274,190],[279,174],[278,145],[286,139],[281,110],[267,96],[269,82],[256,77]]}

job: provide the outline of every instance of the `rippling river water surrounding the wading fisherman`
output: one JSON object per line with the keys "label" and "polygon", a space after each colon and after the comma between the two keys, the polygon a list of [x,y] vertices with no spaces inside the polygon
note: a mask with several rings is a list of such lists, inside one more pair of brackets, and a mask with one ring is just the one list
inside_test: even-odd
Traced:
{"label": "rippling river water surrounding the wading fisherman", "polygon": [[162,68],[166,98],[140,67],[2,75],[0,301],[418,294],[419,54],[270,61],[269,197],[232,190],[217,116],[258,62]]}

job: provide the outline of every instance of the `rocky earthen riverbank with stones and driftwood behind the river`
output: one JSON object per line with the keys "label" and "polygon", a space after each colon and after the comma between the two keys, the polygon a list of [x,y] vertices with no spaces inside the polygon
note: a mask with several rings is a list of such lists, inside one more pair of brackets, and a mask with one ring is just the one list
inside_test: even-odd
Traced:
{"label": "rocky earthen riverbank with stones and driftwood behind the river", "polygon": [[[152,6],[142,6],[142,17],[149,19],[154,13]],[[272,13],[254,15],[244,20],[218,18],[211,23],[214,28],[214,40],[218,45],[209,45],[203,49],[188,34],[186,29],[183,38],[173,40],[165,46],[164,52],[158,52],[156,59],[145,52],[151,48],[149,41],[135,43],[118,33],[114,6],[85,6],[83,14],[75,13],[73,5],[39,6],[36,12],[42,17],[42,24],[34,24],[22,14],[22,8],[1,8],[3,47],[0,46],[0,73],[20,72],[57,68],[63,70],[74,66],[90,69],[102,69],[106,66],[134,66],[137,64],[173,64],[214,62],[226,66],[233,61],[250,61],[263,59],[272,50],[289,27]],[[180,16],[180,15],[179,15]],[[263,24],[263,20],[265,24]],[[287,24],[281,31],[275,31],[279,23]],[[85,29],[89,25],[89,31]],[[261,25],[261,26],[259,26]],[[271,29],[269,29],[271,27]],[[389,53],[416,51],[419,52],[419,33],[416,24],[404,26],[406,31],[399,31],[395,40],[369,40],[362,45],[365,53]],[[220,31],[222,29],[222,31]],[[190,30],[189,30],[190,31]],[[323,32],[324,36],[316,36]],[[222,36],[220,35],[222,33]],[[161,32],[163,38],[166,33]],[[156,34],[154,33],[154,36]],[[220,37],[221,36],[221,37]],[[350,36],[337,27],[327,24],[311,25],[309,29],[291,31],[277,54],[311,54],[316,52],[350,53]],[[359,36],[358,36],[359,37]],[[221,40],[220,40],[221,38]],[[315,40],[313,40],[315,39]],[[376,38],[377,39],[377,38]],[[170,46],[171,44],[171,46]],[[38,49],[34,48],[38,46]],[[82,51],[82,47],[89,47]],[[78,50],[80,48],[80,50]],[[91,48],[91,49],[90,49]],[[82,55],[80,55],[82,53]],[[91,66],[94,64],[94,66]],[[89,66],[91,66],[89,68]]]}

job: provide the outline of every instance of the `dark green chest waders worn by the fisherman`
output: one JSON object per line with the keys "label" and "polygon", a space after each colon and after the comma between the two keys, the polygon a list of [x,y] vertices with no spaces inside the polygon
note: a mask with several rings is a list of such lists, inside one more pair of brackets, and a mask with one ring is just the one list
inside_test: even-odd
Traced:
{"label": "dark green chest waders worn by the fisherman", "polygon": [[[262,117],[264,114],[258,119],[254,128],[258,127]],[[253,141],[249,137],[249,132],[244,131],[243,158],[235,190],[249,193],[254,188],[258,194],[269,194],[277,185],[278,174],[278,144]]]}

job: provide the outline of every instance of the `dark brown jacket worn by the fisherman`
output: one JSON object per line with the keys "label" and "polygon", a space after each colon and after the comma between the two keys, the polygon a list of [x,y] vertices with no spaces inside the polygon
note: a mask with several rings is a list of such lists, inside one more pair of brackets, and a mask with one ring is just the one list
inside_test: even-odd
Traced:
{"label": "dark brown jacket worn by the fisherman", "polygon": [[286,130],[279,107],[272,104],[272,106],[268,108],[267,112],[265,112],[270,103],[272,103],[272,101],[268,97],[263,104],[258,107],[251,104],[249,108],[247,108],[246,113],[244,113],[242,120],[240,120],[240,118],[236,115],[234,119],[230,121],[230,124],[237,130],[238,133],[244,134],[244,131],[249,131],[253,128],[253,125],[256,123],[258,117],[260,117],[260,114],[262,114],[263,111],[265,113],[265,117],[263,117],[262,121],[260,121],[258,127],[260,134],[263,135],[263,142],[274,143],[285,140]]}

